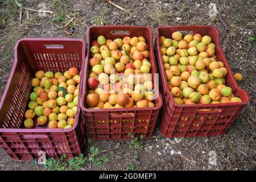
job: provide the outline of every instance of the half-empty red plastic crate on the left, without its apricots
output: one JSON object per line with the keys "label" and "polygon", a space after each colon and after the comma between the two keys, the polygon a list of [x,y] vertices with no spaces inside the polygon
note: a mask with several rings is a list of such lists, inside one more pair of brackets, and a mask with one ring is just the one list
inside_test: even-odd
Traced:
{"label": "half-empty red plastic crate on the left, without its apricots", "polygon": [[[24,128],[24,112],[28,109],[31,80],[38,70],[64,72],[71,67],[83,70],[85,42],[82,39],[20,39],[14,49],[13,69],[0,103],[0,144],[14,160],[46,158],[63,154],[78,156],[84,144],[84,125],[80,101],[75,125],[71,129],[48,129],[47,124],[33,129]],[[82,71],[83,72],[83,71]],[[79,97],[82,93],[82,73]],[[35,119],[36,121],[36,119]]]}

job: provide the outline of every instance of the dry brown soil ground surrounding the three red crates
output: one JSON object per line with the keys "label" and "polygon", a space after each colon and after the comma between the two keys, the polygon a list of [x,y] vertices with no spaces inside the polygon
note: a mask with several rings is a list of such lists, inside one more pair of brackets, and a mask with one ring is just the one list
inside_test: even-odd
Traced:
{"label": "dry brown soil ground surrounding the three red crates", "polygon": [[[117,9],[105,1],[55,0],[24,1],[24,7],[38,10],[39,3],[45,3],[54,14],[39,16],[37,12],[21,11],[13,0],[0,1],[0,97],[14,61],[16,40],[27,38],[86,38],[87,27],[93,24],[147,25],[155,33],[160,24],[212,24],[221,33],[221,47],[224,49],[233,72],[244,76],[239,83],[247,90],[251,101],[236,119],[228,133],[221,137],[182,138],[179,143],[160,135],[158,126],[154,137],[142,142],[143,150],[134,158],[129,141],[100,141],[87,144],[98,147],[110,158],[106,164],[96,167],[86,163],[81,169],[126,170],[134,166],[142,170],[255,170],[256,167],[256,121],[255,121],[255,45],[249,43],[255,37],[255,1],[113,1],[127,12]],[[216,3],[220,18],[212,22],[209,3]],[[69,17],[76,16],[69,29],[63,28]],[[72,28],[70,28],[72,27]],[[229,28],[229,31],[227,30]],[[174,152],[175,151],[175,152]],[[212,152],[216,152],[216,165],[209,163]],[[214,152],[213,152],[214,153]],[[173,155],[172,155],[173,154]],[[214,153],[215,154],[215,153]],[[133,167],[131,167],[133,168]],[[44,169],[31,162],[14,162],[0,147],[0,170]]]}

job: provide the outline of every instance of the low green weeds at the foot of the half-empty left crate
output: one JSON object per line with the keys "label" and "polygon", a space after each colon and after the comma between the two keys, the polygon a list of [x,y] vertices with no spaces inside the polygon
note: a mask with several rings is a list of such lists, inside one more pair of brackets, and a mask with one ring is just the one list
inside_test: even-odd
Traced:
{"label": "low green weeds at the foot of the half-empty left crate", "polygon": [[47,171],[71,171],[71,170],[79,170],[82,165],[85,164],[86,158],[84,155],[80,154],[80,156],[76,156],[71,159],[66,159],[67,155],[63,154],[60,157],[60,160],[56,160],[54,158],[47,159],[46,164],[44,164],[44,168]]}

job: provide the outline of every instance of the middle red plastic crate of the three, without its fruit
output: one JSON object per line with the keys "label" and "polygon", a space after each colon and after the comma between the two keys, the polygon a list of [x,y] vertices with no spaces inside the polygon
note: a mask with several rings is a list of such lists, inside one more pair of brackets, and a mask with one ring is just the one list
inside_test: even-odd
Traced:
{"label": "middle red plastic crate of the three, without its fruit", "polygon": [[[119,31],[119,32],[116,32]],[[120,33],[121,31],[121,33]],[[125,31],[125,32],[123,32]],[[88,109],[85,98],[88,91],[90,45],[97,37],[104,35],[106,39],[123,38],[125,36],[143,36],[150,52],[151,72],[156,73],[152,31],[146,26],[91,26],[87,30],[87,55],[85,59],[84,85],[81,97],[82,119],[84,120],[87,137],[94,140],[129,139],[129,133],[135,137],[150,138],[154,133],[158,119],[162,96],[155,100],[155,107],[121,108],[121,109]]]}

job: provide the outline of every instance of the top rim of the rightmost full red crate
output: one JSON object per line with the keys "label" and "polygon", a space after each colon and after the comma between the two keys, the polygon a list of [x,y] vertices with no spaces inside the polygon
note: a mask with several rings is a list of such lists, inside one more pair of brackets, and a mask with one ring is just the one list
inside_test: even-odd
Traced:
{"label": "top rim of the rightmost full red crate", "polygon": [[[218,31],[218,28],[214,27],[214,26],[196,26],[196,25],[192,25],[192,26],[185,26],[185,25],[179,25],[179,26],[158,26],[156,27],[156,38],[155,38],[155,55],[158,56],[158,57],[162,57],[161,53],[160,53],[160,46],[159,46],[159,29],[160,28],[185,28],[185,27],[188,27],[188,28],[213,28],[214,31],[217,32],[218,34],[218,38],[217,38],[217,46],[220,48],[220,32]],[[222,49],[220,48],[220,51],[222,51]],[[226,57],[224,56],[224,59],[226,59]],[[163,64],[161,62],[161,60],[159,60],[159,71],[160,71],[160,75],[164,76],[165,78],[165,75],[163,75]],[[228,61],[227,61],[228,62]],[[164,83],[162,83],[162,87],[163,87],[163,84],[166,84],[167,81],[164,81]],[[230,102],[230,103],[221,103],[221,104],[182,104],[182,105],[178,105],[176,104],[175,102],[173,102],[173,96],[171,95],[170,93],[170,90],[167,91],[167,93],[165,93],[165,91],[163,90],[163,93],[164,94],[169,94],[170,95],[170,98],[171,98],[171,101],[172,101],[172,104],[175,106],[175,107],[216,107],[216,106],[234,106],[234,105],[246,105],[249,103],[250,101],[250,96],[248,94],[248,92],[246,90],[243,90],[242,88],[240,88],[238,85],[237,85],[237,82],[235,82],[236,84],[236,87],[238,90],[241,90],[242,92],[245,93],[246,95],[246,100],[245,101],[242,101],[242,102]],[[200,109],[200,108],[199,108]]]}

